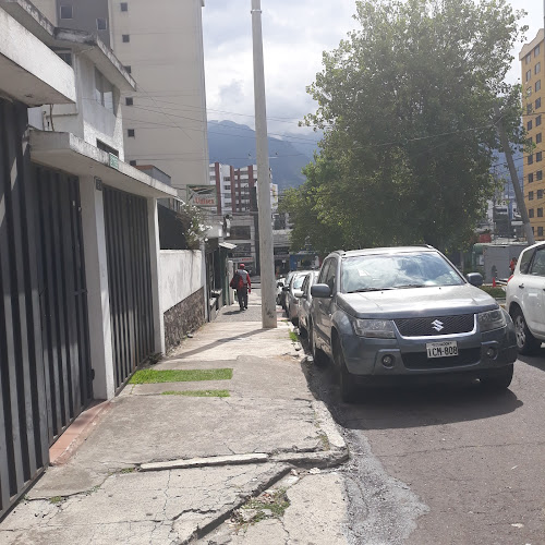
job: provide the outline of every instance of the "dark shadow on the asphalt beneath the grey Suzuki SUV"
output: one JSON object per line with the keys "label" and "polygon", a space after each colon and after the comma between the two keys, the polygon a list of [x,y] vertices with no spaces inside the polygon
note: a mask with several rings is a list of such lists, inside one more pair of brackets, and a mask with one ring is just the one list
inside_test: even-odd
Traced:
{"label": "dark shadow on the asphalt beneath the grey Suzuki SUV", "polygon": [[324,401],[337,423],[349,429],[470,422],[508,414],[523,405],[511,390],[487,391],[479,382],[469,379],[365,387],[355,403],[347,404],[340,399],[338,373],[332,363],[324,367],[302,363],[302,370],[314,397]]}

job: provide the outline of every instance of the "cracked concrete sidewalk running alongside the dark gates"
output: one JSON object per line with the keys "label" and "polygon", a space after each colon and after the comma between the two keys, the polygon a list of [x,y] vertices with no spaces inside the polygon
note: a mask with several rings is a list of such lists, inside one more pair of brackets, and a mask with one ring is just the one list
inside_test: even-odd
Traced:
{"label": "cracked concrete sidewalk running alongside the dark gates", "polygon": [[327,469],[346,445],[288,324],[261,328],[258,298],[153,366],[231,379],[128,385],[0,523],[0,544],[346,544],[344,488]]}

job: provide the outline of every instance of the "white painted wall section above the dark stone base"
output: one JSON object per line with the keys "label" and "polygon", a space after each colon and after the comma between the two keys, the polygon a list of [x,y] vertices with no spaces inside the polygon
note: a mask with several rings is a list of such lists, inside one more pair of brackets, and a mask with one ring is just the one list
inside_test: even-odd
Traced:
{"label": "white painted wall section above the dark stone base", "polygon": [[161,250],[159,299],[161,312],[203,288],[203,256],[199,250]]}

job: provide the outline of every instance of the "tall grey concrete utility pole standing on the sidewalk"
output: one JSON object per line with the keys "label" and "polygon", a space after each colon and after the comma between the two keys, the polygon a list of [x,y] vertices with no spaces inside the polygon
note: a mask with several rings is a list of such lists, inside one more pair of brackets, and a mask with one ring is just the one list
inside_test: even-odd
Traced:
{"label": "tall grey concrete utility pole standing on the sidewalk", "polygon": [[255,140],[257,147],[257,208],[259,221],[259,261],[262,279],[262,322],[264,328],[277,327],[275,259],[270,206],[269,149],[265,68],[263,62],[262,5],[252,0],[252,36],[254,40]]}

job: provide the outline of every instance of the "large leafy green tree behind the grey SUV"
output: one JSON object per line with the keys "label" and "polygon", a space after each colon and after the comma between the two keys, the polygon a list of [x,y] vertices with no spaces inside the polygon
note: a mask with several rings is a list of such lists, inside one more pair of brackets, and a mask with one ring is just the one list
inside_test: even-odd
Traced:
{"label": "large leafy green tree behind the grey SUV", "polygon": [[308,125],[325,132],[283,208],[292,245],[320,252],[467,241],[493,192],[501,97],[522,143],[520,88],[504,83],[523,13],[506,0],[362,0],[360,28],[324,53]]}

